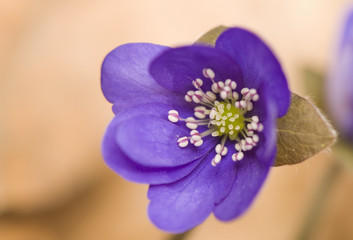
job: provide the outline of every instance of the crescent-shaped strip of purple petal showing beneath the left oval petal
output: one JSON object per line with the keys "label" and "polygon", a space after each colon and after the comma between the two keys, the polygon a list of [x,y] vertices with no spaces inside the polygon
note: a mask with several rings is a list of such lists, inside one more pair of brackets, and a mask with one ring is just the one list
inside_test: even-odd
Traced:
{"label": "crescent-shaped strip of purple petal showing beneath the left oval petal", "polygon": [[127,180],[162,184],[170,183],[189,174],[200,162],[195,160],[178,167],[145,167],[133,162],[116,143],[116,130],[120,123],[120,116],[115,116],[109,124],[102,142],[102,154],[107,165]]}

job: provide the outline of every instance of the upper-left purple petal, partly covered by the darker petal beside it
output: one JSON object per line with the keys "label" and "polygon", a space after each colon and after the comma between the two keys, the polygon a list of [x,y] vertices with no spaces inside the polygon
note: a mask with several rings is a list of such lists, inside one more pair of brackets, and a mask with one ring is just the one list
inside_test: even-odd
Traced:
{"label": "upper-left purple petal, partly covered by the darker petal beside it", "polygon": [[159,86],[148,72],[157,55],[168,47],[150,43],[130,43],[117,47],[104,59],[102,65],[102,91],[114,103],[114,112],[136,104],[166,102],[171,93]]}

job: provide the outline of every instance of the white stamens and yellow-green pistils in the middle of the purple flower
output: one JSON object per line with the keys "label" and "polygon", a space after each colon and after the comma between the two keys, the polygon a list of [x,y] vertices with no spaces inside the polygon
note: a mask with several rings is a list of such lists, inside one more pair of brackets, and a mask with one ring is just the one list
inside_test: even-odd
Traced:
{"label": "white stamens and yellow-green pistils in the middle of the purple flower", "polygon": [[[203,144],[203,138],[211,135],[219,137],[220,143],[216,145],[216,155],[211,164],[216,166],[221,162],[222,157],[227,155],[228,148],[225,146],[227,139],[234,142],[235,153],[233,161],[240,161],[244,158],[244,152],[252,150],[259,142],[256,132],[263,130],[263,125],[258,116],[251,116],[253,102],[259,100],[256,89],[243,88],[236,91],[237,83],[231,79],[224,82],[214,80],[215,73],[210,68],[202,71],[203,76],[212,81],[212,91],[201,88],[203,80],[195,79],[192,83],[196,91],[190,90],[185,95],[185,101],[199,104],[194,108],[194,117],[181,118],[176,110],[168,112],[168,119],[171,122],[183,121],[186,127],[191,129],[190,136],[180,137],[177,141],[181,148],[187,147],[189,142],[195,147]],[[199,133],[196,129],[199,126],[207,125],[208,130]]]}

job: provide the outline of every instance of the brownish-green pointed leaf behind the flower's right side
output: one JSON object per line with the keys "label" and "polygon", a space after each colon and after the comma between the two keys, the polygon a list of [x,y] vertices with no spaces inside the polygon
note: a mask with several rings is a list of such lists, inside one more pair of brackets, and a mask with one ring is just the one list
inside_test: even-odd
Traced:
{"label": "brownish-green pointed leaf behind the flower's right side", "polygon": [[274,166],[300,163],[333,145],[336,131],[308,99],[292,93],[288,113],[277,122]]}

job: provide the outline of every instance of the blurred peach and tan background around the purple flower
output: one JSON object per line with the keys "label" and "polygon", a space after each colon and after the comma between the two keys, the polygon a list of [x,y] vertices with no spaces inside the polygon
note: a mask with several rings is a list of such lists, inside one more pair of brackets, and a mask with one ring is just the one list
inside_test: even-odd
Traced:
{"label": "blurred peach and tan background around the purple flower", "polygon": [[[345,0],[1,0],[0,239],[167,239],[149,222],[147,186],[104,164],[112,119],[100,90],[105,55],[127,42],[190,44],[223,24],[259,34],[292,91],[302,69],[324,71]],[[315,96],[313,96],[315,98]],[[273,168],[247,213],[213,216],[187,239],[298,239],[332,164],[325,151]],[[353,239],[353,173],[340,171],[310,239]]]}

